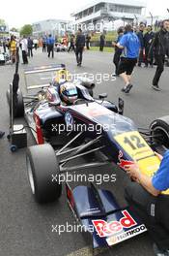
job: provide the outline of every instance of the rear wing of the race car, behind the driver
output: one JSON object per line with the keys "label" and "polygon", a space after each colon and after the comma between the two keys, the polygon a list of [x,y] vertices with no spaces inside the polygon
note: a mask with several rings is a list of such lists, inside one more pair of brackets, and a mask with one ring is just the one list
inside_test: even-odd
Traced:
{"label": "rear wing of the race car, behind the driver", "polygon": [[[48,87],[52,78],[54,77],[54,72],[59,70],[66,70],[65,64],[57,64],[57,65],[47,65],[40,67],[32,67],[24,70],[24,80],[27,90],[38,89],[43,87]],[[41,74],[44,77],[41,78]],[[48,75],[47,75],[48,74]],[[33,78],[33,75],[34,78]],[[47,77],[46,77],[47,75]],[[46,80],[46,83],[42,83],[42,80]]]}

